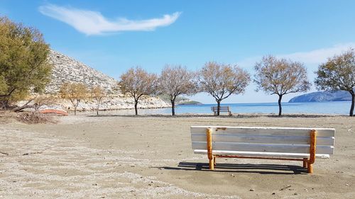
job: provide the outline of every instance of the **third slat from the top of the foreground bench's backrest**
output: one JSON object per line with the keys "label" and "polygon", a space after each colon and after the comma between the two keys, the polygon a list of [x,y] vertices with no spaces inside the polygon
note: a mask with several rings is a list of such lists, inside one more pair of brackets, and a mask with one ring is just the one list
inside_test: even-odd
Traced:
{"label": "third slat from the top of the foreground bench's backrest", "polygon": [[[192,142],[192,149],[207,149],[206,142]],[[310,145],[304,144],[251,144],[239,142],[212,142],[212,149],[247,152],[309,153]],[[333,154],[332,146],[317,146],[319,154]]]}

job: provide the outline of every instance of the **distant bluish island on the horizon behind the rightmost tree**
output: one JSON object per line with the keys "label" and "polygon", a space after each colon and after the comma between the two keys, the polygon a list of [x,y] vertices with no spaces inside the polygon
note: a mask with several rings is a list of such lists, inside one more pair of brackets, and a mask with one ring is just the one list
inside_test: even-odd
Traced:
{"label": "distant bluish island on the horizon behind the rightmost tree", "polygon": [[288,102],[293,103],[322,101],[351,101],[351,94],[348,91],[318,91],[313,93],[306,93],[301,96],[291,98]]}

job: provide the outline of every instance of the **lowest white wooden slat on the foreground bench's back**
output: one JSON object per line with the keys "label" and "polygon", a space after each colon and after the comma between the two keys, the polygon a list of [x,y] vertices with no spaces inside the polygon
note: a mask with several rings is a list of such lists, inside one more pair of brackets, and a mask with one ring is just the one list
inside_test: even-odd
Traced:
{"label": "lowest white wooden slat on the foreground bench's back", "polygon": [[[213,154],[217,155],[244,155],[253,157],[291,157],[291,158],[309,158],[310,154],[300,154],[300,153],[272,153],[272,152],[236,152],[236,151],[223,151],[223,150],[212,150]],[[207,150],[196,149],[195,154],[207,154]],[[317,158],[329,158],[329,154],[316,154]]]}

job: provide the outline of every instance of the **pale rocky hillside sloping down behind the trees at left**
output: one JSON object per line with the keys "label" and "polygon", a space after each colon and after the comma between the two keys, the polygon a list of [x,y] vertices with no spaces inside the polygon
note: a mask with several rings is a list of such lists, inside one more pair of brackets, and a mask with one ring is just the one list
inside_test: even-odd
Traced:
{"label": "pale rocky hillside sloping down behind the trees at left", "polygon": [[[78,62],[71,57],[61,54],[60,52],[50,51],[48,57],[49,62],[53,64],[53,72],[51,76],[50,84],[45,88],[47,94],[57,94],[60,86],[65,82],[76,82],[86,85],[88,88],[92,86],[101,86],[107,93],[107,98],[104,98],[100,109],[113,110],[113,109],[125,109],[134,108],[133,98],[124,96],[117,89],[117,83],[115,79],[102,72],[99,72],[82,62]],[[58,106],[62,106],[63,109],[72,110],[72,105],[68,101],[59,101]],[[91,100],[80,102],[78,110],[94,110],[96,103]],[[138,103],[139,108],[163,108],[169,107],[168,103],[160,98],[147,97],[143,98]]]}

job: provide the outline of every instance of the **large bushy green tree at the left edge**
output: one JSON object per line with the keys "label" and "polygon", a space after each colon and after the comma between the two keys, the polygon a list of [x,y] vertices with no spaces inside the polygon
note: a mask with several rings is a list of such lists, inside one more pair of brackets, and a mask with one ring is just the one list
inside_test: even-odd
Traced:
{"label": "large bushy green tree at the left edge", "polygon": [[0,18],[0,104],[23,100],[40,93],[50,81],[50,47],[35,28]]}

